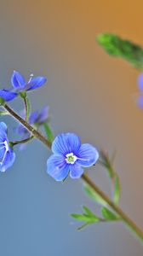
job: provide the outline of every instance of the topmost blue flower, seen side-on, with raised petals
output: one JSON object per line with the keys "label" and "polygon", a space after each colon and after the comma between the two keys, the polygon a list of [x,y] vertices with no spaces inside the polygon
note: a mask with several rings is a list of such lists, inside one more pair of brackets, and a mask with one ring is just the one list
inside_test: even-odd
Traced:
{"label": "topmost blue flower, seen side-on, with raised petals", "polygon": [[25,78],[19,72],[14,71],[14,73],[11,76],[11,84],[13,85],[13,87],[7,90],[0,90],[0,97],[2,97],[6,102],[12,101],[20,93],[29,90],[35,90],[43,86],[43,84],[45,84],[46,81],[46,78],[33,78],[33,75],[31,75],[29,81],[26,82]]}

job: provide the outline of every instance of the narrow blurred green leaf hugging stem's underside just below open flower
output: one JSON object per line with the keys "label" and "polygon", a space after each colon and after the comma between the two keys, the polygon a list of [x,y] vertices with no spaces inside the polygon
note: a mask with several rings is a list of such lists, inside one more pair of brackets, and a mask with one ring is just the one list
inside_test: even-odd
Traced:
{"label": "narrow blurred green leaf hugging stem's underside just below open flower", "polygon": [[89,187],[89,185],[85,184],[83,189],[84,189],[85,193],[90,197],[91,200],[93,200],[93,201],[99,203],[100,205],[106,207],[106,205],[107,205],[106,201],[104,201],[104,200],[100,197],[100,195],[98,195],[97,193],[95,193],[95,192],[94,192],[94,189],[91,189],[91,188]]}

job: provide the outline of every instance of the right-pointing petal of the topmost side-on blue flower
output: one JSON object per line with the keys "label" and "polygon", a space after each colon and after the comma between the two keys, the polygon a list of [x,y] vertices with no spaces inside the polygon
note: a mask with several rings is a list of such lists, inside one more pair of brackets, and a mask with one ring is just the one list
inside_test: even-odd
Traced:
{"label": "right-pointing petal of the topmost side-on blue flower", "polygon": [[43,84],[45,84],[46,82],[47,82],[47,79],[43,77],[37,77],[35,79],[31,79],[31,81],[28,84],[26,84],[25,90],[37,89],[43,86]]}

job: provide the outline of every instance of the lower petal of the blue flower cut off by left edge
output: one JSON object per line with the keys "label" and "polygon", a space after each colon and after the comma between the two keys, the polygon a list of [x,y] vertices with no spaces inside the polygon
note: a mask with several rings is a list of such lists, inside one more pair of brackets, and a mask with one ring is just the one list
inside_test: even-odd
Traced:
{"label": "lower petal of the blue flower cut off by left edge", "polygon": [[14,151],[9,148],[9,151],[6,153],[6,156],[3,160],[3,164],[0,165],[0,171],[5,172],[9,167],[14,164],[15,154]]}

